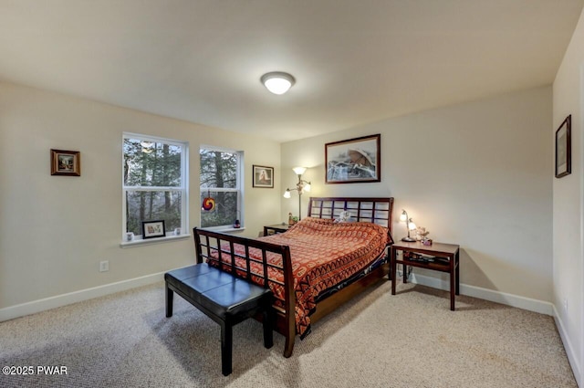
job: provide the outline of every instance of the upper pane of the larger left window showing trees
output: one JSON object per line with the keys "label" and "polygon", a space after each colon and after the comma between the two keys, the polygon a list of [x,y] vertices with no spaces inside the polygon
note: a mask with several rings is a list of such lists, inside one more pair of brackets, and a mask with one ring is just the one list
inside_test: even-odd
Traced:
{"label": "upper pane of the larger left window showing trees", "polygon": [[182,149],[163,142],[124,139],[124,185],[180,187]]}

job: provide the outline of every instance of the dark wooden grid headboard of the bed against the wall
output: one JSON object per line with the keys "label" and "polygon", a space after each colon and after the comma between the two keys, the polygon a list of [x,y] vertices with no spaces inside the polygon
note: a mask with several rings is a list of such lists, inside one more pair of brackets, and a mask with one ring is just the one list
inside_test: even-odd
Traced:
{"label": "dark wooden grid headboard of the bed against the wall", "polygon": [[317,218],[336,218],[343,210],[347,210],[355,221],[370,222],[392,227],[391,214],[393,198],[368,197],[315,197],[308,202],[308,216]]}

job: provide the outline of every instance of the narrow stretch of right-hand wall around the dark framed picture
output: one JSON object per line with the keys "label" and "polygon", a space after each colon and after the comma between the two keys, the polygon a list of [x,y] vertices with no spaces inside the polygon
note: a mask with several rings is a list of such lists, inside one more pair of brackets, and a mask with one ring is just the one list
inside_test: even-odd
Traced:
{"label": "narrow stretch of right-hand wall around the dark framed picture", "polygon": [[[568,46],[553,86],[553,126],[548,131],[549,147],[555,132],[572,115],[572,173],[554,179],[554,299],[558,330],[579,385],[584,383],[584,201],[582,177],[582,125],[584,111],[584,11]],[[553,163],[553,162],[552,162]],[[568,309],[564,308],[567,301]]]}

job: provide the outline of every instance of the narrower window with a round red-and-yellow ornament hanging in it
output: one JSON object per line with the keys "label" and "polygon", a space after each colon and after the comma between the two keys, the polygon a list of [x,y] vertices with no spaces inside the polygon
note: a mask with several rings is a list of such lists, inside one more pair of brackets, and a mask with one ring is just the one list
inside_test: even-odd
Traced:
{"label": "narrower window with a round red-and-yellow ornament hanging in it", "polygon": [[203,146],[199,154],[201,204],[214,200],[211,210],[201,206],[201,227],[231,228],[235,220],[243,226],[243,152]]}

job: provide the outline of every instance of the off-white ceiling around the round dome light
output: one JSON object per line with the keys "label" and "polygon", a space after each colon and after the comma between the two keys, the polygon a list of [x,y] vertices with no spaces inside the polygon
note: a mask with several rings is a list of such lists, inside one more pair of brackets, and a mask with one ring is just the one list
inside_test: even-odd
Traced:
{"label": "off-white ceiling around the round dome light", "polygon": [[0,0],[0,80],[287,142],[551,84],[583,5]]}

